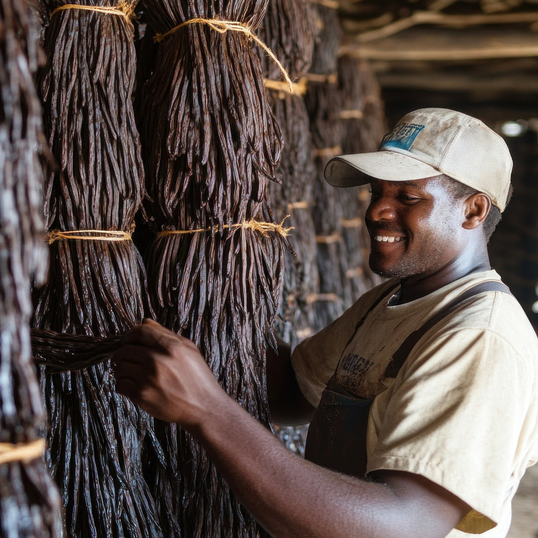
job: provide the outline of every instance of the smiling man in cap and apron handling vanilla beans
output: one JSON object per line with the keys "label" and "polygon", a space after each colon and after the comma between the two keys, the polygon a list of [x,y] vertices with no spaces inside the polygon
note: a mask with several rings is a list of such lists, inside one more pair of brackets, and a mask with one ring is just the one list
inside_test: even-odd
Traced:
{"label": "smiling man in cap and apron handling vanilla beans", "polygon": [[538,342],[486,249],[511,168],[501,137],[445,109],[405,116],[376,153],[329,162],[330,183],[370,183],[370,265],[391,279],[301,343],[293,370],[285,352],[268,359],[273,420],[317,407],[312,461],[153,321],[116,353],[118,391],[199,438],[274,536],[505,536],[538,441]]}

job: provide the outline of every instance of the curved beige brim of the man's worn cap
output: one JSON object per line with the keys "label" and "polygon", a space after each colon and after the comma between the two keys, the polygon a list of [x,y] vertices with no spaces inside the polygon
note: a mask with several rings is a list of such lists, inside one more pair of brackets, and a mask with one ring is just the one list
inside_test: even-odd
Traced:
{"label": "curved beige brim of the man's worn cap", "polygon": [[412,181],[433,178],[442,172],[426,163],[392,151],[339,155],[325,166],[325,180],[335,187],[355,187],[372,178]]}

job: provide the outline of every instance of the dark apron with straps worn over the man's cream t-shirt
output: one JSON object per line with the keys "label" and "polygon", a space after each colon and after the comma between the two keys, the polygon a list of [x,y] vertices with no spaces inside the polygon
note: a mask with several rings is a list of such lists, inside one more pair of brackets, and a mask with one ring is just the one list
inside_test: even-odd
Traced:
{"label": "dark apron with straps worn over the man's cream t-shirt", "polygon": [[[367,315],[381,300],[392,293],[393,289],[391,288],[387,294],[381,296],[359,320],[348,345],[364,323]],[[385,377],[398,375],[415,344],[443,317],[456,310],[463,301],[486,291],[510,293],[509,289],[501,282],[486,281],[459,295],[441,312],[430,318],[422,327],[405,339],[388,363]],[[347,348],[347,345],[345,347]],[[350,394],[337,383],[336,373],[333,374],[321,395],[320,404],[308,427],[305,458],[328,469],[364,478],[367,462],[366,433],[372,402],[373,399],[365,400]]]}

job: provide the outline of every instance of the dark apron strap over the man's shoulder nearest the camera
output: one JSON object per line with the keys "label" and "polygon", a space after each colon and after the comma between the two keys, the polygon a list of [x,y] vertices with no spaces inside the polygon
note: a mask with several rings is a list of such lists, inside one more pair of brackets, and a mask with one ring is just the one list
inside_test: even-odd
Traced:
{"label": "dark apron strap over the man's shoulder nearest the camera", "polygon": [[404,366],[404,363],[409,356],[409,353],[413,350],[415,345],[419,340],[438,322],[440,322],[444,317],[447,317],[449,314],[454,312],[463,302],[471,299],[475,295],[483,292],[503,292],[508,295],[512,295],[510,289],[502,282],[498,280],[487,280],[486,282],[480,282],[476,286],[469,288],[466,292],[463,292],[461,295],[458,295],[454,300],[448,303],[441,312],[438,312],[435,316],[431,317],[426,323],[413,331],[400,345],[397,351],[392,356],[391,361],[388,363],[385,370],[385,377],[396,377],[401,367]]}

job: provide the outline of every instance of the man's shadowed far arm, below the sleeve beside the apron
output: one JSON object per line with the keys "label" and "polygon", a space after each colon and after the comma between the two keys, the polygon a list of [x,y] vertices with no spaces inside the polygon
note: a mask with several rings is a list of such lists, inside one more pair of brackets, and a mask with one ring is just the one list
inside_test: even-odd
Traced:
{"label": "man's shadowed far arm, below the sleeve beside the apron", "polygon": [[278,426],[307,424],[315,409],[297,384],[289,345],[278,338],[277,342],[277,353],[267,349],[267,399],[271,422]]}

